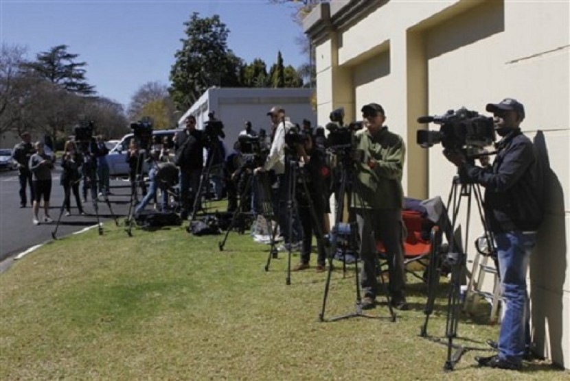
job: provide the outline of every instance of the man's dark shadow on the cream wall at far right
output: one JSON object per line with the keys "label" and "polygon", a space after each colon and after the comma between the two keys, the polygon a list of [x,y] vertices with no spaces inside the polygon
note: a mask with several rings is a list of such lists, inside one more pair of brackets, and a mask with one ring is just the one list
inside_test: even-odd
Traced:
{"label": "man's dark shadow on the cream wall at far right", "polygon": [[545,219],[538,231],[530,260],[532,339],[536,352],[558,365],[569,367],[562,351],[563,286],[567,267],[565,205],[562,185],[550,167],[544,133],[538,131],[534,145],[545,171]]}

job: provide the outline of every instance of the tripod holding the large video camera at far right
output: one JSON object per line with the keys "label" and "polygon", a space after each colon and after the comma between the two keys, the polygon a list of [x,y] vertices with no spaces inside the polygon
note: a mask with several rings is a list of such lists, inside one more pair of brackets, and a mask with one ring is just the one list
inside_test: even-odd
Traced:
{"label": "tripod holding the large video camera at far right", "polygon": [[[459,237],[455,237],[453,232],[455,231],[455,226],[457,223],[457,216],[459,214],[459,210],[461,207],[461,198],[467,198],[467,208],[466,208],[466,231],[464,237],[461,237],[461,232],[459,232]],[[484,236],[488,243],[488,247],[494,247],[493,238],[491,232],[487,230],[487,224],[485,220],[485,214],[483,212],[483,198],[481,196],[481,188],[479,184],[473,184],[471,182],[464,182],[461,180],[459,175],[453,177],[453,182],[451,186],[451,190],[449,193],[447,204],[450,205],[453,199],[453,207],[451,209],[452,216],[451,216],[451,234],[449,234],[448,240],[451,241],[448,243],[449,245],[449,252],[442,263],[440,260],[435,260],[435,262],[430,262],[429,268],[429,275],[428,278],[433,282],[429,286],[428,291],[428,299],[426,301],[426,307],[424,313],[426,315],[426,319],[424,321],[424,325],[422,325],[420,336],[426,337],[435,341],[436,343],[441,343],[447,345],[447,359],[444,364],[444,370],[451,371],[455,367],[455,364],[459,362],[461,356],[466,351],[469,350],[478,350],[478,351],[488,351],[492,350],[489,348],[483,347],[470,347],[470,346],[463,346],[457,345],[453,343],[453,339],[457,338],[457,327],[459,325],[459,315],[461,314],[461,282],[465,278],[465,271],[466,271],[466,259],[467,259],[467,251],[463,249],[463,244],[468,243],[469,241],[469,225],[470,225],[470,217],[471,217],[471,206],[472,206],[472,198],[475,197],[475,201],[477,203],[477,210],[479,212],[479,217],[481,219],[481,223],[483,225],[483,229],[485,230]],[[459,242],[457,242],[459,241]],[[451,268],[451,280],[449,282],[448,294],[447,294],[447,313],[446,313],[446,330],[445,330],[445,337],[446,342],[442,341],[442,339],[433,338],[427,334],[427,325],[429,321],[429,317],[433,312],[433,303],[435,301],[435,286],[437,286],[437,279],[440,276],[440,267],[437,265],[447,265]],[[455,349],[455,351],[454,351]]]}

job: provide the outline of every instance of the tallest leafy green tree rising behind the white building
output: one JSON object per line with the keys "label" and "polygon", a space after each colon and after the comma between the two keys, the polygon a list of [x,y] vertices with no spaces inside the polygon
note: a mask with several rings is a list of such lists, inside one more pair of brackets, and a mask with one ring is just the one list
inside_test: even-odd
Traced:
{"label": "tallest leafy green tree rising behind the white building", "polygon": [[229,29],[217,14],[197,12],[184,23],[186,38],[170,70],[170,96],[176,108],[188,108],[210,86],[240,86],[241,60],[227,47]]}

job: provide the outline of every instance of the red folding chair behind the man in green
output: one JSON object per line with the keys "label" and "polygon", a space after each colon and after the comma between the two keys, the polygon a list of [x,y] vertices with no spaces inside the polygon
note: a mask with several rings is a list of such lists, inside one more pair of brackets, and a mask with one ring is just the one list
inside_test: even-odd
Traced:
{"label": "red folding chair behind the man in green", "polygon": [[[442,243],[440,227],[417,210],[402,210],[405,241],[402,243],[404,252],[404,268],[415,278],[428,281],[430,266],[439,265],[439,255]],[[376,242],[376,251],[379,258],[380,275],[387,272],[387,253],[382,241]],[[422,275],[412,264],[420,265]],[[386,267],[386,269],[384,269]]]}

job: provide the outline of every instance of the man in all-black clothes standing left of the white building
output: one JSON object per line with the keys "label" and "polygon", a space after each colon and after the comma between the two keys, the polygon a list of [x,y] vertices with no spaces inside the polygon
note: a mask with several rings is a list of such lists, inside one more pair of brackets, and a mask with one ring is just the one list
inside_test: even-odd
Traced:
{"label": "man in all-black clothes standing left of the white building", "polygon": [[[203,132],[196,129],[196,117],[194,115],[186,118],[186,130],[178,132],[174,141],[176,148],[176,162],[174,164],[180,167],[181,217],[186,219],[194,197],[200,197],[196,192],[200,186],[200,176],[204,167],[206,143]],[[192,188],[192,195],[190,188]],[[197,207],[200,208],[199,199]]]}

